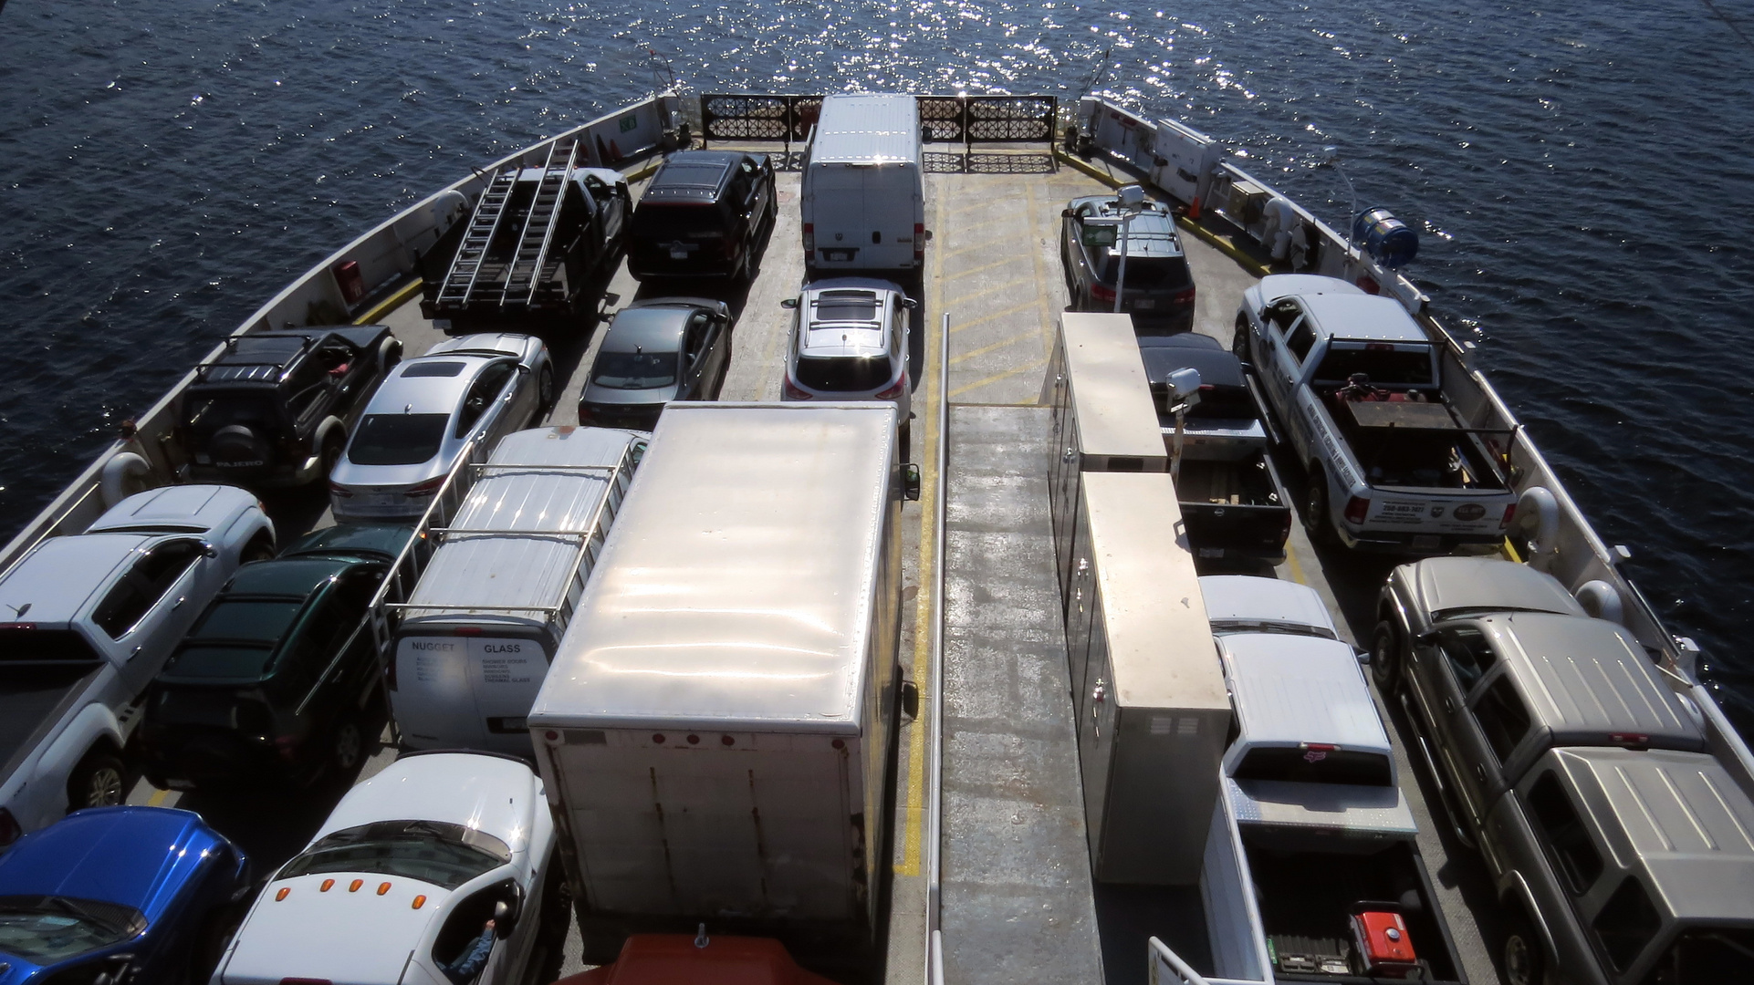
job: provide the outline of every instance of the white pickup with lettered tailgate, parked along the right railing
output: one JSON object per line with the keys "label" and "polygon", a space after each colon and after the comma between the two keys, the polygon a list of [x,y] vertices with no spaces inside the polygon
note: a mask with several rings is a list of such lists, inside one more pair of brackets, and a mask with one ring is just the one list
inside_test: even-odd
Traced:
{"label": "white pickup with lettered tailgate, parked along the right railing", "polygon": [[1312,540],[1449,554],[1505,536],[1510,433],[1465,426],[1437,347],[1400,301],[1333,277],[1265,277],[1244,294],[1233,349],[1308,470]]}

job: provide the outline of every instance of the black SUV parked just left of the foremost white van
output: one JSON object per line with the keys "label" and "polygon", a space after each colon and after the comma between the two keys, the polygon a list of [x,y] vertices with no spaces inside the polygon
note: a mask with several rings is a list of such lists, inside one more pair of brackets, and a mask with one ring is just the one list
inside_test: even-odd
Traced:
{"label": "black SUV parked just left of the foremost white van", "polygon": [[777,212],[766,154],[670,154],[633,209],[628,273],[640,280],[749,277]]}

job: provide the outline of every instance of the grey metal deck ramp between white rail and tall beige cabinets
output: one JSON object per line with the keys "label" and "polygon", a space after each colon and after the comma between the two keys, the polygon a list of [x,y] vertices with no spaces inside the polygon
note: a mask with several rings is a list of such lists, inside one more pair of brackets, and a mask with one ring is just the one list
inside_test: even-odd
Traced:
{"label": "grey metal deck ramp between white rail and tall beige cabinets", "polygon": [[[1102,981],[1047,517],[1047,414],[951,407],[944,974],[958,985]],[[1042,468],[1019,468],[1028,461]]]}

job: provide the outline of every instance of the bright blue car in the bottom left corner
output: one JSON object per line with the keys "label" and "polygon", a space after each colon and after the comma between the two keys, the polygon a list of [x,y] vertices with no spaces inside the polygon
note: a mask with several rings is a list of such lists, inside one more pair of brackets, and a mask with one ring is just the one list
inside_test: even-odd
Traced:
{"label": "bright blue car in the bottom left corner", "polygon": [[72,813],[0,857],[0,985],[207,981],[249,889],[196,813]]}

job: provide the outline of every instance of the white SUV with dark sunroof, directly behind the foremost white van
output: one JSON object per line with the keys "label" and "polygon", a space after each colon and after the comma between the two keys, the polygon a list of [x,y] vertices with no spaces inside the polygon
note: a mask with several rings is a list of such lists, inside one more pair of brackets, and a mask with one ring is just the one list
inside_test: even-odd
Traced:
{"label": "white SUV with dark sunroof, directly behind the foremost white van", "polygon": [[907,457],[912,379],[909,312],[917,301],[888,280],[837,277],[805,286],[793,308],[781,400],[886,400],[895,403]]}

